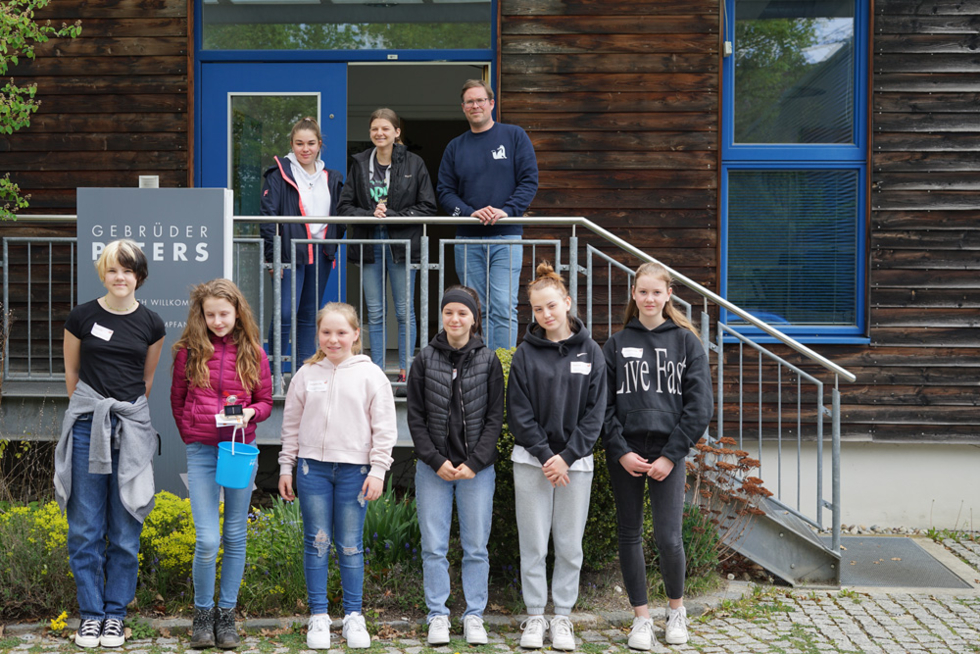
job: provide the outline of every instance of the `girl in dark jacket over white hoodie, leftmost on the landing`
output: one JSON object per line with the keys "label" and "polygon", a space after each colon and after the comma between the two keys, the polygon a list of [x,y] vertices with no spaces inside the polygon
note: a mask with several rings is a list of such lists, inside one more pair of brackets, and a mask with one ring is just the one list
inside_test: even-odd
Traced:
{"label": "girl in dark jacket over white hoodie, leftmost on the landing", "polygon": [[[324,167],[320,159],[323,139],[316,120],[306,117],[293,125],[289,134],[292,151],[283,158],[274,157],[275,164],[265,172],[262,183],[261,213],[263,216],[335,216],[337,201],[344,176],[336,170]],[[282,354],[288,355],[289,334],[292,329],[293,309],[296,309],[296,352],[298,361],[293,370],[299,370],[303,361],[316,350],[316,312],[323,304],[327,278],[333,266],[337,246],[324,243],[293,244],[294,239],[338,239],[344,235],[344,226],[337,223],[262,223],[265,240],[265,261],[272,263],[273,243],[282,240],[282,261],[291,263],[292,270],[282,274],[282,330],[279,334]],[[270,270],[270,273],[273,271]],[[296,275],[296,298],[290,296]],[[272,347],[275,317],[269,325],[269,347]],[[289,370],[285,368],[284,370]]]}

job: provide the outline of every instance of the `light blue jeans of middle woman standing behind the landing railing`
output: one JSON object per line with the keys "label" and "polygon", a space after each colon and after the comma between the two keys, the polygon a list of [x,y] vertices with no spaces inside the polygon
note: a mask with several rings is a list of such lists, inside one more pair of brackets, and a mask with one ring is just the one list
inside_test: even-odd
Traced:
{"label": "light blue jeans of middle woman standing behind the landing railing", "polygon": [[[388,238],[387,227],[376,227],[374,238]],[[372,246],[368,246],[372,247]],[[405,291],[405,262],[395,263],[392,247],[404,250],[398,245],[375,245],[374,263],[361,266],[361,280],[364,286],[364,302],[367,304],[368,334],[371,337],[371,360],[384,370],[385,350],[385,278],[391,280],[391,297],[395,301],[395,317],[398,319],[398,367],[408,368],[408,356],[415,351],[415,271],[408,271],[408,295]],[[408,341],[406,343],[406,332]],[[406,347],[407,345],[407,347]]]}

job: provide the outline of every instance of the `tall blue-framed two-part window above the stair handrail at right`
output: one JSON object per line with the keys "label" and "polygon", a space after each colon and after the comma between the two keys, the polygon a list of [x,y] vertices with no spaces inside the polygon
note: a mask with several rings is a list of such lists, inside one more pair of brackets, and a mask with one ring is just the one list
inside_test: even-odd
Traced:
{"label": "tall blue-framed two-part window above the stair handrail at right", "polygon": [[721,293],[795,338],[867,342],[867,3],[725,12]]}

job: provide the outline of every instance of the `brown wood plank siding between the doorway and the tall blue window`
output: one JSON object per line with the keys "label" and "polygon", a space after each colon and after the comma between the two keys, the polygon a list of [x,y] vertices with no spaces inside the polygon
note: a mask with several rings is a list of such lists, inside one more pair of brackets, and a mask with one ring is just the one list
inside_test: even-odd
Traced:
{"label": "brown wood plank siding between the doorway and the tall blue window", "polygon": [[[720,12],[717,0],[500,0],[498,108],[537,153],[532,215],[587,216],[717,284]],[[624,282],[596,308],[600,338]]]}

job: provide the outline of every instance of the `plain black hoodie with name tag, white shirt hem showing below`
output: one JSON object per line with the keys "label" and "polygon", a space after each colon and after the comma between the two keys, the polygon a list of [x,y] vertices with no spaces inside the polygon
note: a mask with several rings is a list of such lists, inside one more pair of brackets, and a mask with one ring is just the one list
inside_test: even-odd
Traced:
{"label": "plain black hoodie with name tag, white shirt hem showing below", "polygon": [[582,321],[572,335],[549,341],[528,326],[507,383],[507,426],[542,465],[555,454],[572,465],[592,453],[606,411],[605,361]]}

